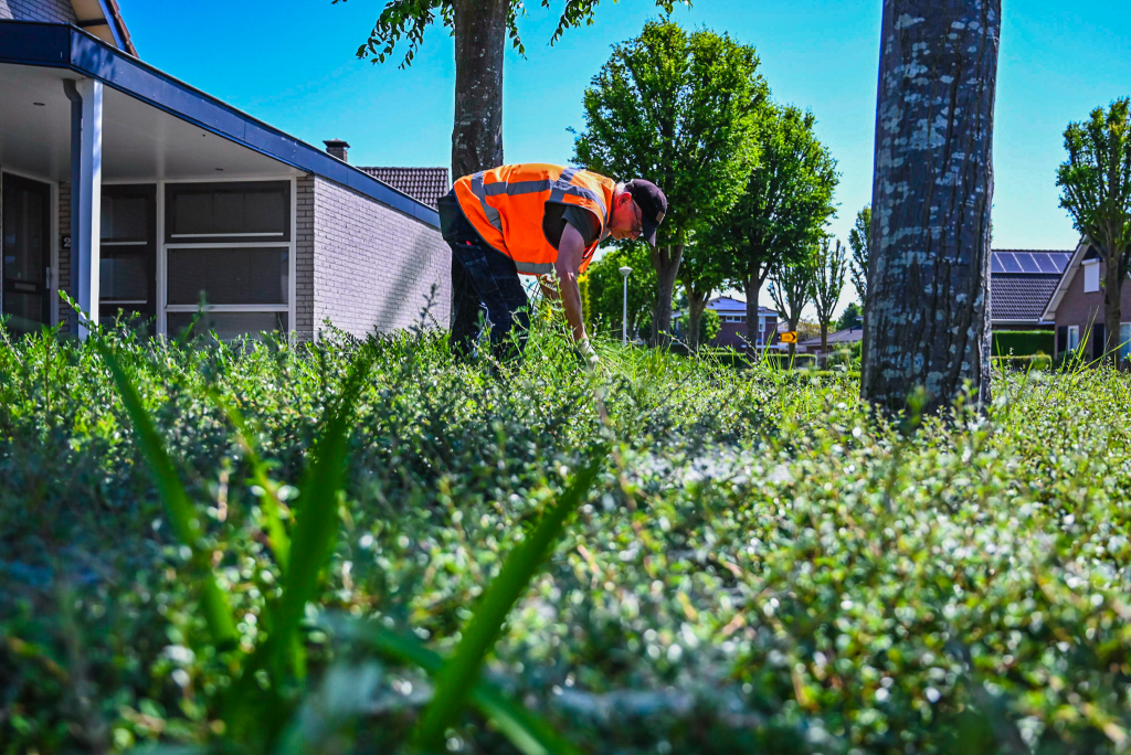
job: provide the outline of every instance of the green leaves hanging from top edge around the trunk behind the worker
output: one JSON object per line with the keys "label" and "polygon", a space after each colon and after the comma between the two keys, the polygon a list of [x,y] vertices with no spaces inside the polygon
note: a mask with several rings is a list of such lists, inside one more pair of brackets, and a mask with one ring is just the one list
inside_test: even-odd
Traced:
{"label": "green leaves hanging from top edge around the trunk behind the worker", "polygon": [[[333,5],[346,2],[346,0],[331,0]],[[526,6],[523,0],[504,0],[507,7],[507,34],[510,36],[511,46],[518,50],[520,55],[526,54],[526,45],[518,32],[518,18],[526,15]],[[615,0],[614,0],[615,2]],[[679,0],[656,0],[656,7],[671,14]],[[558,26],[554,28],[550,44],[553,45],[566,29],[579,28],[582,24],[592,25],[594,12],[601,0],[567,0],[558,17]],[[438,19],[444,26],[451,28],[456,23],[458,12],[455,0],[385,0],[385,8],[373,24],[373,29],[369,33],[369,40],[357,47],[359,58],[372,58],[374,63],[383,63],[396,51],[397,45],[405,41],[408,49],[400,61],[400,68],[412,66],[416,51],[424,43],[424,33],[428,27]],[[683,5],[690,6],[690,0],[683,0]],[[543,8],[550,8],[550,0],[542,0]],[[474,5],[464,3],[459,10],[474,8]],[[466,11],[464,11],[466,12]],[[501,19],[500,19],[501,20]]]}

